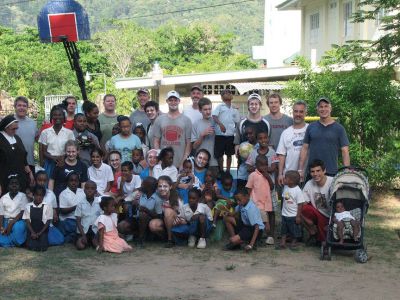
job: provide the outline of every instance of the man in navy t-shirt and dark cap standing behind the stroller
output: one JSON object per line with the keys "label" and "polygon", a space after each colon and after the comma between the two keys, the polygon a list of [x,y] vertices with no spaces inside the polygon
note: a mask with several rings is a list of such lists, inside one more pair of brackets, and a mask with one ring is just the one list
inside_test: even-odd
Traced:
{"label": "man in navy t-shirt and dark cap standing behind the stroller", "polygon": [[300,152],[299,172],[303,179],[307,156],[309,162],[315,159],[322,160],[329,176],[336,175],[338,171],[339,150],[343,165],[350,165],[349,139],[344,127],[331,117],[332,106],[328,98],[323,97],[318,100],[317,112],[319,121],[307,127]]}

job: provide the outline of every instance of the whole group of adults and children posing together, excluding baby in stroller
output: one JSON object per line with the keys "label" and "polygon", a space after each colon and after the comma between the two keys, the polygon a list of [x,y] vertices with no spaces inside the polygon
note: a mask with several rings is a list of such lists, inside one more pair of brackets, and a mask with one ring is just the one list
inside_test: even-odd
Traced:
{"label": "whole group of adults and children posing together, excluding baby in stroller", "polygon": [[180,95],[170,91],[168,112],[161,113],[140,89],[140,107],[129,117],[116,114],[114,95],[104,96],[101,114],[89,101],[75,113],[70,96],[41,128],[27,116],[27,98],[17,97],[15,114],[0,122],[0,247],[44,251],[71,242],[79,250],[121,253],[132,250],[133,239],[142,247],[159,238],[167,247],[203,249],[223,224],[225,249],[250,251],[263,238],[277,244],[278,212],[277,249],[287,241],[296,248],[302,228],[308,242],[323,243],[339,154],[350,165],[349,141],[331,117],[330,100],[317,101],[320,119],[308,125],[306,103],[294,103],[292,118],[281,112],[279,94],[267,96],[266,116],[256,93],[246,116],[230,90],[215,108],[200,86],[190,96],[181,113]]}

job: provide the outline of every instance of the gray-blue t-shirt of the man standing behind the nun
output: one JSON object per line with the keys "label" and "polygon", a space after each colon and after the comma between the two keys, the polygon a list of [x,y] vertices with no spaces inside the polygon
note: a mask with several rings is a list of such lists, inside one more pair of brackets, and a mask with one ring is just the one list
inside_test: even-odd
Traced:
{"label": "gray-blue t-shirt of the man standing behind the nun", "polygon": [[29,117],[26,117],[25,119],[19,119],[17,116],[15,116],[15,118],[18,121],[18,130],[16,133],[21,138],[27,152],[26,160],[28,161],[28,165],[34,166],[35,157],[33,153],[35,137],[38,134],[36,122]]}

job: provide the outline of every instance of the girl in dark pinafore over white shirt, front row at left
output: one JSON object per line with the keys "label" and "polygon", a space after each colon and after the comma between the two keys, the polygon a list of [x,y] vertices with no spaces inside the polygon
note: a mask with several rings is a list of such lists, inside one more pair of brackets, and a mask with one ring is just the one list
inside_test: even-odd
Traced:
{"label": "girl in dark pinafore over white shirt, front row at left", "polygon": [[29,233],[26,245],[29,250],[46,251],[49,247],[49,225],[53,219],[53,209],[43,202],[46,188],[36,185],[33,188],[33,202],[26,205],[22,218],[26,222]]}

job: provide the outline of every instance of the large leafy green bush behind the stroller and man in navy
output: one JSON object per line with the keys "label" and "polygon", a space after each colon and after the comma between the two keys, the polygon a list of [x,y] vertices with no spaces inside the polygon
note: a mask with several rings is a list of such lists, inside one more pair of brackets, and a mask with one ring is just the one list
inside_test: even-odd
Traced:
{"label": "large leafy green bush behind the stroller and man in navy", "polygon": [[392,81],[393,69],[370,71],[358,66],[339,73],[325,62],[321,72],[316,73],[309,62],[300,61],[302,74],[289,81],[285,94],[305,99],[309,115],[316,114],[319,97],[329,97],[333,116],[338,117],[349,136],[352,164],[369,170],[372,185],[390,185],[399,176],[396,165],[398,168],[400,157],[400,89]]}

